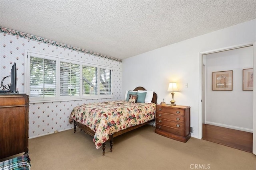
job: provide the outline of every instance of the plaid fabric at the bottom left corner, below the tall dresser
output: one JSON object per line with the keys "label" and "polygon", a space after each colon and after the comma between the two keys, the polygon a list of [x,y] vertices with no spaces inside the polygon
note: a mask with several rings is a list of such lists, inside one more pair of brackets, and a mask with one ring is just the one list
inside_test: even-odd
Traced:
{"label": "plaid fabric at the bottom left corner, below the tall dresser", "polygon": [[30,158],[28,155],[0,162],[0,170],[30,170],[30,166]]}

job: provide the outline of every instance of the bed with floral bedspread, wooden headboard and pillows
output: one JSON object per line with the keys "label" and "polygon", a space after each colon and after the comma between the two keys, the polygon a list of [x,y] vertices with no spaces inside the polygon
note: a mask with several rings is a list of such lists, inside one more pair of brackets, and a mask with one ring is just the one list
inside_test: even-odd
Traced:
{"label": "bed with floral bedspread, wooden headboard and pillows", "polygon": [[[133,91],[126,91],[126,94],[126,100],[84,104],[74,107],[70,114],[69,122],[74,122],[74,133],[76,127],[79,127],[80,131],[91,135],[96,149],[102,147],[102,156],[105,155],[107,141],[110,141],[112,152],[114,137],[155,120],[155,92],[137,87]],[[152,94],[152,97],[149,94]],[[134,102],[134,97],[137,102]]]}

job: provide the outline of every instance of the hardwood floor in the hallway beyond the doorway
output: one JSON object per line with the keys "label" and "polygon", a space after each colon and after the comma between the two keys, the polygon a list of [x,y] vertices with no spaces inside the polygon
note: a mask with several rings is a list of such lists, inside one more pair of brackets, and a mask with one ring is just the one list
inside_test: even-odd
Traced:
{"label": "hardwood floor in the hallway beyond the doorway", "polygon": [[250,132],[203,124],[202,139],[252,153],[252,133]]}

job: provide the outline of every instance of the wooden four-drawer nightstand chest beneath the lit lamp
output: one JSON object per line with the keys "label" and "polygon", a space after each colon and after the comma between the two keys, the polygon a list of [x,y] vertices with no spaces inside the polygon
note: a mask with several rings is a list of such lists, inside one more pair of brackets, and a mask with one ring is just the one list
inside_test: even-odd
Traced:
{"label": "wooden four-drawer nightstand chest beneath the lit lamp", "polygon": [[190,106],[156,105],[155,133],[181,142],[190,139]]}

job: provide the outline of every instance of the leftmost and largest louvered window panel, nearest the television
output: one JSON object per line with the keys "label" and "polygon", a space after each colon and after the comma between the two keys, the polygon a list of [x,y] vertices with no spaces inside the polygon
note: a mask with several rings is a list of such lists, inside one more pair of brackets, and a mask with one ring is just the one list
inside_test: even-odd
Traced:
{"label": "leftmost and largest louvered window panel, nearest the television", "polygon": [[30,96],[56,96],[56,60],[30,57]]}

